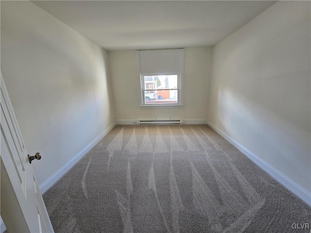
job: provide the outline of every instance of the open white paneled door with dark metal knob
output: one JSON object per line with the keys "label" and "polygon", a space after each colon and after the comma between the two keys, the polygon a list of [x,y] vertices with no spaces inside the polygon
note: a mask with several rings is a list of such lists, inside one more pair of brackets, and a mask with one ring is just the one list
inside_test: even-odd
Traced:
{"label": "open white paneled door with dark metal knob", "polygon": [[8,232],[53,233],[2,75],[0,119],[0,201],[4,224]]}

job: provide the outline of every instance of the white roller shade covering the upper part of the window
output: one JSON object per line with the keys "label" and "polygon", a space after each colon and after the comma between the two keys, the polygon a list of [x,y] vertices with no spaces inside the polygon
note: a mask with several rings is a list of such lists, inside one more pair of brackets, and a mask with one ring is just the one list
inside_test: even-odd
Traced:
{"label": "white roller shade covering the upper part of the window", "polygon": [[180,74],[184,63],[184,49],[137,50],[141,74]]}

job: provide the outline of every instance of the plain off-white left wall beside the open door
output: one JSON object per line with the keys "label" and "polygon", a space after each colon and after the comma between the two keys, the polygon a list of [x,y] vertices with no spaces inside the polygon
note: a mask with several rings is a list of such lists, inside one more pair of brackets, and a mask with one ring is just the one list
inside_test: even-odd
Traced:
{"label": "plain off-white left wall beside the open door", "polygon": [[107,52],[30,1],[1,1],[1,72],[39,184],[115,122]]}

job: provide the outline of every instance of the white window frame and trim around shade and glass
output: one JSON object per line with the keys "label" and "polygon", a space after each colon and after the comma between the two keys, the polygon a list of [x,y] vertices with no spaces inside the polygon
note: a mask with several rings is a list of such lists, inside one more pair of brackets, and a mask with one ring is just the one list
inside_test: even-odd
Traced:
{"label": "white window frame and trim around shade and glass", "polygon": [[[143,50],[146,51],[146,50]],[[140,56],[139,50],[136,50],[136,57],[138,63],[138,76],[140,83],[140,108],[182,108],[183,105],[183,77],[184,77],[184,49],[171,50],[172,52],[181,53],[181,68],[178,72],[156,72],[156,73],[141,73],[140,72]],[[148,50],[148,53],[161,53],[167,52],[167,50]],[[145,103],[145,86],[144,86],[144,76],[159,76],[159,75],[177,75],[177,103]]]}

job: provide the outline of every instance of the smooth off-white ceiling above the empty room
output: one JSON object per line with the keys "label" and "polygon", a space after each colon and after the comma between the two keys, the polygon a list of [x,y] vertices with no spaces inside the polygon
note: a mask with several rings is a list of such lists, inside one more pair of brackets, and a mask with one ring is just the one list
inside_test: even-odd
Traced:
{"label": "smooth off-white ceiling above the empty room", "polygon": [[33,1],[106,50],[213,46],[276,1]]}

